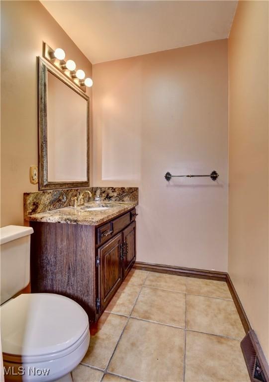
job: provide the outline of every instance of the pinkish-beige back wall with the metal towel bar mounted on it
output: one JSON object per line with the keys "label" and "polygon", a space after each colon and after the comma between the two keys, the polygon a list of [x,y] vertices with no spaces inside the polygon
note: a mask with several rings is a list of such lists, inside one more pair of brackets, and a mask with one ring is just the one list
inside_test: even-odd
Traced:
{"label": "pinkish-beige back wall with the metal towel bar mounted on it", "polygon": [[93,186],[139,187],[139,261],[227,271],[227,69],[227,40],[93,65]]}

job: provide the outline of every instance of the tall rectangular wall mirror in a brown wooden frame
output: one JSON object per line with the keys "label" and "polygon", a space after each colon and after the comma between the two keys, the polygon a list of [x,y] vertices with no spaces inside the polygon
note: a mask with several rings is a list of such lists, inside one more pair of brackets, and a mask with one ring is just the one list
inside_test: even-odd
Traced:
{"label": "tall rectangular wall mirror in a brown wooden frame", "polygon": [[89,97],[39,57],[38,98],[39,190],[89,186]]}

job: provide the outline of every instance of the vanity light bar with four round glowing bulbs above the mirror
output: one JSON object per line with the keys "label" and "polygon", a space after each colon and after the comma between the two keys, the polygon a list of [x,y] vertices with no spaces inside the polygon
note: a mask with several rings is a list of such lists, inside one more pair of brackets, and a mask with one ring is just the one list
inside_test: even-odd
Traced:
{"label": "vanity light bar with four round glowing bulbs above the mirror", "polygon": [[87,87],[90,88],[92,86],[92,80],[89,77],[85,79],[86,74],[84,70],[78,69],[76,71],[75,61],[64,61],[65,56],[65,51],[62,48],[54,50],[45,42],[43,43],[43,57],[86,93]]}

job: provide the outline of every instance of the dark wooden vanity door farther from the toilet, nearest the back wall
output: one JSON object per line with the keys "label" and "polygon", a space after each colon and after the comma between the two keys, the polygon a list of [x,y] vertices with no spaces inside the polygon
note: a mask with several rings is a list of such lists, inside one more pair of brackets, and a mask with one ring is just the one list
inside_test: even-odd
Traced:
{"label": "dark wooden vanity door farther from the toilet, nearest the back wall", "polygon": [[131,223],[123,230],[123,278],[132,268],[136,259],[136,223]]}

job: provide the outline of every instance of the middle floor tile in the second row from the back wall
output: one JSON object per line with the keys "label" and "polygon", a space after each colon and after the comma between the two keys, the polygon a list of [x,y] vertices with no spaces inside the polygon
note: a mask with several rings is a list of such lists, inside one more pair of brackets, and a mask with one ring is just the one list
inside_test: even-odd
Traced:
{"label": "middle floor tile in the second row from the back wall", "polygon": [[132,316],[185,327],[185,293],[143,287]]}

